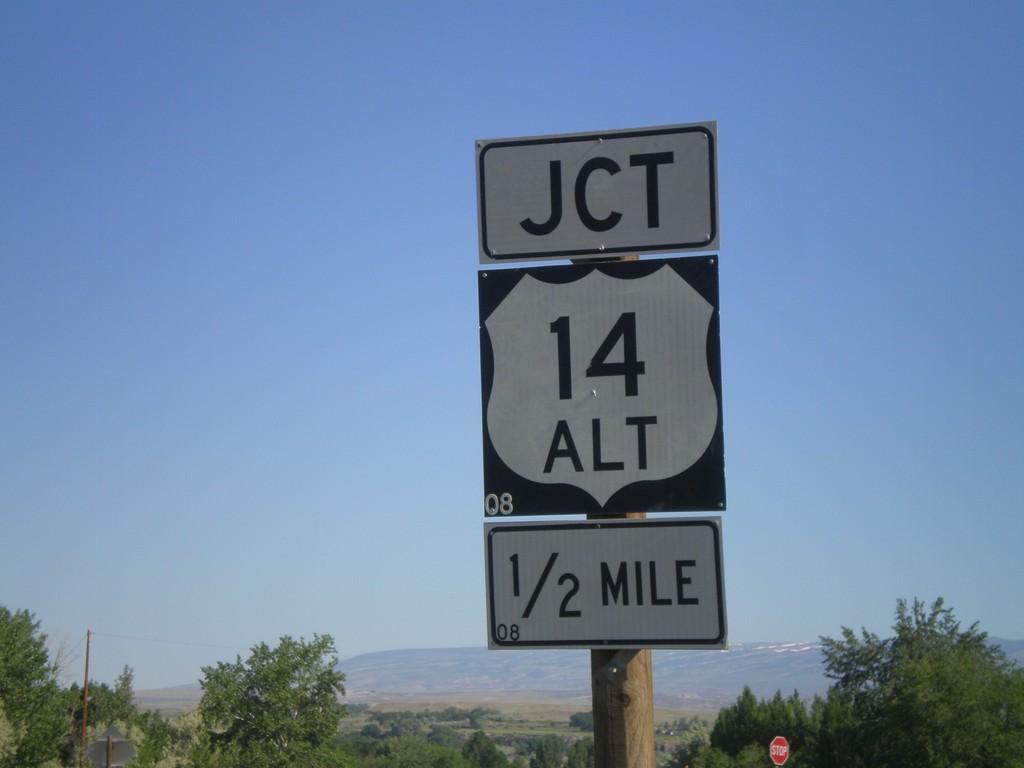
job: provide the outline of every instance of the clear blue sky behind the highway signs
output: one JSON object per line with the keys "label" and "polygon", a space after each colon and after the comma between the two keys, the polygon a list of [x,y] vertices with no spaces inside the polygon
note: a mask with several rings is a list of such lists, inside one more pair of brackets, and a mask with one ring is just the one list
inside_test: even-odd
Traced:
{"label": "clear blue sky behind the highway signs", "polygon": [[0,4],[0,604],[138,688],[483,645],[473,141],[714,120],[730,639],[1024,638],[1022,51],[1019,2]]}

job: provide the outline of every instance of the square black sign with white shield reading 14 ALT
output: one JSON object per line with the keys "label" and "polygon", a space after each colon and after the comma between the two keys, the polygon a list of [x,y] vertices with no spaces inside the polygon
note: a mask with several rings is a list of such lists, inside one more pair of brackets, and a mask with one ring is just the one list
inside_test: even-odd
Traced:
{"label": "square black sign with white shield reading 14 ALT", "polygon": [[478,282],[485,514],[725,508],[715,257]]}

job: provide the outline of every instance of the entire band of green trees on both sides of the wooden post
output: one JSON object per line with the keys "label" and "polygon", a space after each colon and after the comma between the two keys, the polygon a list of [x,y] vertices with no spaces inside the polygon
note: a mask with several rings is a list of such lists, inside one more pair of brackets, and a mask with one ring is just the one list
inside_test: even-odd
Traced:
{"label": "entire band of green trees on both sides of the wooden post", "polygon": [[[941,599],[899,601],[893,630],[822,638],[833,681],[824,696],[758,700],[745,688],[711,727],[666,724],[681,736],[664,768],[764,766],[776,735],[790,742],[790,768],[1024,768],[1024,671],[977,625],[963,629]],[[373,713],[360,732],[342,735],[345,677],[330,636],[286,636],[251,651],[204,667],[198,707],[175,718],[137,710],[127,667],[113,686],[90,682],[90,731],[118,725],[137,749],[132,768],[594,764],[586,735],[488,736],[484,721],[496,713],[482,708]],[[79,765],[82,690],[58,684],[59,667],[32,614],[0,606],[0,768]],[[592,715],[577,713],[570,727],[592,729]]]}

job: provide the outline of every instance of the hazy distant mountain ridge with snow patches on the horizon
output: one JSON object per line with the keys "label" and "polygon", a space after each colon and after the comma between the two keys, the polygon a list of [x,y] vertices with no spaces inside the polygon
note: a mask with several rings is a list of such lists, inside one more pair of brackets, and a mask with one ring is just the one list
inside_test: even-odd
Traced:
{"label": "hazy distant mountain ridge with snow patches on the horizon", "polygon": [[[1024,667],[1024,641],[991,638]],[[659,707],[718,710],[743,686],[759,698],[798,691],[824,694],[820,643],[731,643],[728,650],[655,650],[654,700]],[[339,663],[348,703],[376,701],[570,700],[589,707],[590,652],[432,648],[365,653]],[[143,706],[195,705],[198,685],[140,691]]]}

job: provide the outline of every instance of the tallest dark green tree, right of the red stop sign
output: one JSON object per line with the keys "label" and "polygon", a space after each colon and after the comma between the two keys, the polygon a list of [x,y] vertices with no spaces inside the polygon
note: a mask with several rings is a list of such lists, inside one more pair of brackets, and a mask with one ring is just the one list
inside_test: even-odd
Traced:
{"label": "tallest dark green tree, right of the red stop sign", "polygon": [[1024,766],[1024,673],[941,598],[930,609],[900,600],[893,629],[822,638],[836,683],[816,707],[818,764]]}

